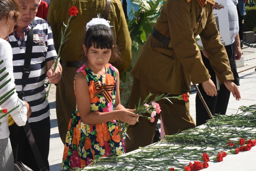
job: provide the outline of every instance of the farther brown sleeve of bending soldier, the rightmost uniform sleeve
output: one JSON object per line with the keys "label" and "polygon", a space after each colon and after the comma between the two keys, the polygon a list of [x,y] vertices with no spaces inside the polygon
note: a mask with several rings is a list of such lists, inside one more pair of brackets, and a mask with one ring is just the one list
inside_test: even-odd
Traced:
{"label": "farther brown sleeve of bending soldier, the rightmost uniform sleeve", "polygon": [[225,80],[234,80],[227,52],[220,42],[212,5],[208,6],[208,10],[207,22],[200,34],[204,49],[207,51],[210,65],[214,69],[220,83],[223,83]]}

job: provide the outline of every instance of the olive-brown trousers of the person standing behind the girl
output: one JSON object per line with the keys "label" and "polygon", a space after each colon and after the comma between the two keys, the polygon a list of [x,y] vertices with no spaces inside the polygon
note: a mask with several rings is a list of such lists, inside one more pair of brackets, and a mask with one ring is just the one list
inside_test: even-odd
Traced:
{"label": "olive-brown trousers of the person standing behind the girl", "polygon": [[63,79],[56,87],[56,115],[61,141],[65,144],[67,127],[76,110],[74,77],[78,67],[63,67]]}

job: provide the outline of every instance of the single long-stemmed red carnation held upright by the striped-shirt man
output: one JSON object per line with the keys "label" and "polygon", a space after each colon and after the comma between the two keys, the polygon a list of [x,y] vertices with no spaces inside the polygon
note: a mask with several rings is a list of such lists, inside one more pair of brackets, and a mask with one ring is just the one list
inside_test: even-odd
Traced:
{"label": "single long-stemmed red carnation held upright by the striped-shirt man", "polygon": [[[67,29],[68,29],[68,26],[69,26],[69,22],[70,22],[70,20],[73,16],[76,16],[77,13],[78,13],[78,10],[75,6],[72,6],[71,8],[68,9],[69,18],[68,18],[68,21],[67,21],[67,25],[65,25],[64,22],[63,22],[65,30],[64,30],[64,33],[63,33],[63,31],[61,29],[61,44],[60,44],[60,47],[59,47],[59,50],[58,50],[57,59],[55,60],[55,63],[53,65],[53,72],[56,70],[56,68],[58,66],[58,62],[60,61],[61,48],[62,48],[64,42],[66,42],[69,39],[68,36],[71,34],[71,30],[68,33],[66,33]],[[41,101],[43,100],[44,97],[46,97],[46,100],[47,100],[51,85],[52,85],[52,83],[50,83],[49,88],[48,88],[47,92],[44,93],[44,96],[41,98]]]}

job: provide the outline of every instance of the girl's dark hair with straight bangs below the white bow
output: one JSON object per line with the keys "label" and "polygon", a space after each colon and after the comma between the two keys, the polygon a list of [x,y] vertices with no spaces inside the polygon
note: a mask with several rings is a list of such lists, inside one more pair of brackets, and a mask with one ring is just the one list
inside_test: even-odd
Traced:
{"label": "girl's dark hair with straight bangs below the white bow", "polygon": [[[84,40],[85,47],[87,48],[84,61],[88,60],[88,49],[93,45],[96,49],[111,49],[111,59],[115,64],[121,61],[120,53],[118,51],[116,40],[114,39],[111,27],[103,24],[95,24],[85,33]],[[114,48],[113,48],[114,45]]]}

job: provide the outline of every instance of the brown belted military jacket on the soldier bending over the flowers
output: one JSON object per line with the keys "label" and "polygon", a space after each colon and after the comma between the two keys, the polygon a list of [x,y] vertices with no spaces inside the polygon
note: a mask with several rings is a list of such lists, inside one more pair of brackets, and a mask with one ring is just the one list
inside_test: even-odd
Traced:
{"label": "brown belted military jacket on the soldier bending over the flowers", "polygon": [[[229,60],[213,15],[213,0],[167,0],[155,29],[170,38],[168,47],[149,36],[132,75],[149,87],[171,94],[190,90],[191,81],[210,78],[195,37],[200,35],[219,81],[233,80]],[[187,84],[181,90],[181,84]]]}

